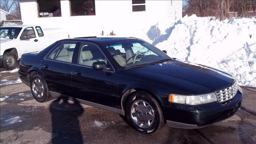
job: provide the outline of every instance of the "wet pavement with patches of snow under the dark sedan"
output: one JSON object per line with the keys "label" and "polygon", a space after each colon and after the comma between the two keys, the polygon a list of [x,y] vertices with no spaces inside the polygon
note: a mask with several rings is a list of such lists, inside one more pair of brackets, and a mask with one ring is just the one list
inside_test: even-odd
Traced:
{"label": "wet pavement with patches of snow under the dark sedan", "polygon": [[15,83],[0,86],[0,144],[256,144],[256,88],[242,87],[241,108],[222,122],[141,134],[107,110],[62,98],[36,102],[17,78],[17,72],[0,74],[1,84]]}

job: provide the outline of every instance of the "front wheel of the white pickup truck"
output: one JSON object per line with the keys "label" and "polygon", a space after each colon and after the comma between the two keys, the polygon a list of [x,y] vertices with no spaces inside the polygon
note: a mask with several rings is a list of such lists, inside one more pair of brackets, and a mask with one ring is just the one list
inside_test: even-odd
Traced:
{"label": "front wheel of the white pickup truck", "polygon": [[5,52],[3,57],[3,66],[7,70],[12,70],[18,66],[18,60],[14,52]]}

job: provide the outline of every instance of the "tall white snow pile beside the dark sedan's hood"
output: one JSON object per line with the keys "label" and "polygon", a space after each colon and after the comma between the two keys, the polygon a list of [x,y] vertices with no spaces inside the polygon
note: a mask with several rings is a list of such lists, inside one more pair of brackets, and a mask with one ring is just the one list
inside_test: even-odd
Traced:
{"label": "tall white snow pile beside the dark sedan's hood", "polygon": [[158,25],[150,28],[147,41],[169,56],[230,72],[239,85],[256,87],[255,18],[210,21],[192,15]]}

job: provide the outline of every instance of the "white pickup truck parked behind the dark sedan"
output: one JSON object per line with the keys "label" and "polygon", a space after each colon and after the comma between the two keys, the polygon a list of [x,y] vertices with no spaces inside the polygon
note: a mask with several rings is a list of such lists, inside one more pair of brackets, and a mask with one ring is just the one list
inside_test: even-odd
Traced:
{"label": "white pickup truck parked behind the dark sedan", "polygon": [[0,28],[0,66],[10,70],[18,65],[21,55],[43,50],[57,40],[69,38],[61,28],[39,25],[12,25]]}

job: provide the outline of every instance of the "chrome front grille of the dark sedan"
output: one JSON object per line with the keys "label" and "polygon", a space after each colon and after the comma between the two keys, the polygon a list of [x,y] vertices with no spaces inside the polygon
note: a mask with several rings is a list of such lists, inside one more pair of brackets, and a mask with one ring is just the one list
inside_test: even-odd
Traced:
{"label": "chrome front grille of the dark sedan", "polygon": [[228,100],[231,100],[232,98],[234,98],[234,96],[236,96],[237,90],[238,90],[238,84],[235,81],[232,86],[216,92],[218,101],[223,103]]}

